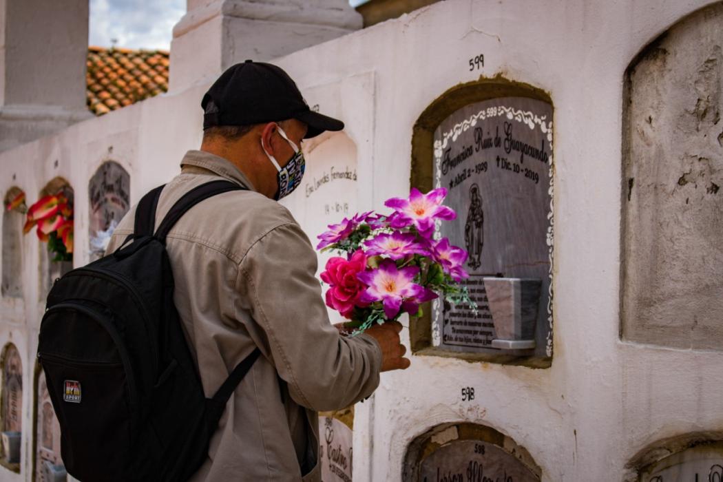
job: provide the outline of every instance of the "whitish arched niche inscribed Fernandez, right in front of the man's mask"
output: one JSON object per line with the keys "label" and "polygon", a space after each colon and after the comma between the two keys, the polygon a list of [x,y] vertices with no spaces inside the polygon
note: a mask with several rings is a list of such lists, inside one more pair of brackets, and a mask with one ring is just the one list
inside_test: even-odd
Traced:
{"label": "whitish arched niche inscribed Fernandez, right in front of the man's mask", "polygon": [[[343,132],[327,132],[304,141],[306,171],[301,185],[282,200],[294,218],[309,236],[313,245],[317,236],[330,224],[340,223],[359,211],[358,182],[356,180],[356,144]],[[333,253],[319,253],[318,272]],[[317,275],[318,275],[317,272]],[[329,309],[333,322],[341,322],[341,315]]]}

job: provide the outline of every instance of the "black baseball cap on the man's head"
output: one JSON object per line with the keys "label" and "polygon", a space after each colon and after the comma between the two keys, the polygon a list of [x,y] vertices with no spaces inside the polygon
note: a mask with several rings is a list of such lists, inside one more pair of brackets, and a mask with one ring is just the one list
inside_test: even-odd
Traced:
{"label": "black baseball cap on the man's head", "polygon": [[228,67],[205,93],[201,107],[204,129],[297,119],[309,126],[308,139],[344,128],[342,121],[312,111],[283,69],[251,60]]}

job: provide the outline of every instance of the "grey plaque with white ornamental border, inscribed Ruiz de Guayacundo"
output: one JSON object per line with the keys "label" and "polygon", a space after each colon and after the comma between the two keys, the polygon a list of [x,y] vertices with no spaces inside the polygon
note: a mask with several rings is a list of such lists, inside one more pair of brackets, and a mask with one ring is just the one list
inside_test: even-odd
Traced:
{"label": "grey plaque with white ornamental border, inscribed Ruiz de Guayacundo", "polygon": [[[437,223],[435,235],[469,251],[470,276],[463,284],[479,309],[435,301],[432,344],[450,351],[552,356],[552,106],[531,98],[470,104],[442,121],[434,150],[435,187],[448,189],[445,204],[457,212],[455,220]],[[485,277],[523,280],[516,286],[538,283],[531,305],[536,317],[533,312],[526,321],[536,322],[534,330],[521,328],[532,333],[527,344],[534,348],[493,346],[493,321],[500,320],[493,320]],[[529,296],[510,293],[502,306],[529,311],[513,306],[515,296],[518,304]]]}

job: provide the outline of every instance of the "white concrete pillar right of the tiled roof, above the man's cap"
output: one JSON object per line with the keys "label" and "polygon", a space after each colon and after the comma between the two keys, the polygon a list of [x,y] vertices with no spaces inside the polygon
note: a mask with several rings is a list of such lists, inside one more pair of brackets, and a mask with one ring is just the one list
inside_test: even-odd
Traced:
{"label": "white concrete pillar right of the tiled roof, above the man's cap", "polygon": [[187,0],[174,27],[169,91],[246,59],[268,61],[361,28],[348,0]]}

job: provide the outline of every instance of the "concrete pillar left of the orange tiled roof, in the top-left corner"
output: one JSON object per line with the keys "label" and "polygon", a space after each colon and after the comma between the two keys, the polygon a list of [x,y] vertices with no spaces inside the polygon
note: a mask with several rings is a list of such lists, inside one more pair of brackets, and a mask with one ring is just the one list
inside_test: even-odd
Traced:
{"label": "concrete pillar left of the orange tiled roof, in the top-left corner", "polygon": [[87,0],[0,0],[0,150],[91,117]]}

